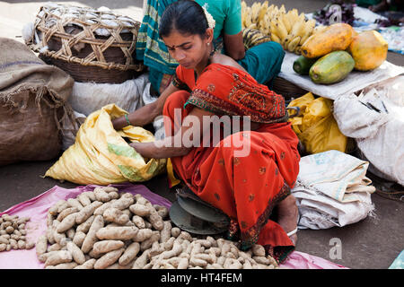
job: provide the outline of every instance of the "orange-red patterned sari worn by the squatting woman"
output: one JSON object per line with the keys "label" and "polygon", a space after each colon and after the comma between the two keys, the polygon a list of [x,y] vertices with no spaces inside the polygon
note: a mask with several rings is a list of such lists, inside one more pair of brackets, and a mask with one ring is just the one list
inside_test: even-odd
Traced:
{"label": "orange-red patterned sari worn by the squatting woman", "polygon": [[[251,121],[261,123],[255,131],[229,135],[248,140],[248,156],[234,156],[242,147],[222,140],[215,146],[195,147],[171,161],[196,195],[231,218],[229,239],[240,239],[242,249],[263,245],[278,262],[284,261],[294,249],[293,242],[269,217],[290,195],[300,161],[298,138],[287,122],[284,98],[250,74],[219,64],[208,65],[197,82],[193,70],[178,66],[173,83],[188,91],[174,92],[164,105],[163,115],[171,118],[164,122],[167,134],[174,135],[174,121],[182,120],[194,106],[218,116],[250,116]],[[181,118],[175,119],[174,109],[179,108]]]}

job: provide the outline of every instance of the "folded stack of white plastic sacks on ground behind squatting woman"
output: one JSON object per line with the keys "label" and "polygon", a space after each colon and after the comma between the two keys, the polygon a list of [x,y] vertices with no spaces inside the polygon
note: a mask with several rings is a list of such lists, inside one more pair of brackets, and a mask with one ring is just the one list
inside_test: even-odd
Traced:
{"label": "folded stack of white plastic sacks on ground behind squatting woman", "polygon": [[292,194],[299,209],[299,229],[342,227],[373,216],[368,161],[344,152],[303,156]]}

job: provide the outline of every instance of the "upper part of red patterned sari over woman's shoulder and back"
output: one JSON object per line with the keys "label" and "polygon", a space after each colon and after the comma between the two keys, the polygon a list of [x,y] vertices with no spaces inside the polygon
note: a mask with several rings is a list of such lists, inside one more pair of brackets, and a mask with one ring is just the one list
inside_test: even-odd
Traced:
{"label": "upper part of red patterned sari over woman's shoulder and back", "polygon": [[192,91],[186,105],[217,115],[250,116],[258,123],[287,120],[284,97],[232,66],[208,65],[196,82],[194,70],[179,65],[173,83],[181,90]]}

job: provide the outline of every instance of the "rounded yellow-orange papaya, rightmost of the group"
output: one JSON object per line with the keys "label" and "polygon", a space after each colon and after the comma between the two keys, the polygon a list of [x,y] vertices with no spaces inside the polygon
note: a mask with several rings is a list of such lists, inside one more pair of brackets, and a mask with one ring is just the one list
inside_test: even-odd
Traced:
{"label": "rounded yellow-orange papaya, rightmost of the group", "polygon": [[347,51],[355,60],[355,69],[370,71],[382,65],[387,57],[389,44],[375,30],[365,30],[352,40]]}

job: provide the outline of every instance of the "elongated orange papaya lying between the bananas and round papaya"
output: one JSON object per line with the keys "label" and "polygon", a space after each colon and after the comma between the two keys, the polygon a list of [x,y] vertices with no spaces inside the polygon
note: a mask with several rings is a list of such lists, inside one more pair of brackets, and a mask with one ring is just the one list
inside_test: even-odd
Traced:
{"label": "elongated orange papaya lying between the bananas and round papaya", "polygon": [[301,48],[302,55],[313,58],[345,50],[351,44],[354,33],[354,29],[347,23],[331,24],[306,39]]}

